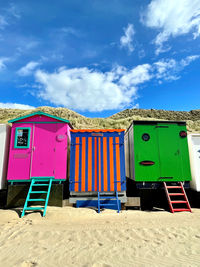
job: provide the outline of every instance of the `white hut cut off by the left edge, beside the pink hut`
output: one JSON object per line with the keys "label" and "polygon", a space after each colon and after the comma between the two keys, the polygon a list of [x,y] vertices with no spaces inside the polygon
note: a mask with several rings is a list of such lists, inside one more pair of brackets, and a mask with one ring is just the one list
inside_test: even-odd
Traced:
{"label": "white hut cut off by the left edge, beside the pink hut", "polygon": [[10,128],[8,124],[0,124],[0,190],[6,185]]}

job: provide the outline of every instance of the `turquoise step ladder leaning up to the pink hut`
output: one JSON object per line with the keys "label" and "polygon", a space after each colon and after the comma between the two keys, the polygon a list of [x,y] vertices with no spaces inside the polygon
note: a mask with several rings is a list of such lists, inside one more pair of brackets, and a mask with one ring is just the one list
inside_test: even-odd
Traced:
{"label": "turquoise step ladder leaning up to the pink hut", "polygon": [[[34,178],[31,180],[30,188],[26,197],[26,201],[24,204],[24,208],[21,214],[21,218],[25,215],[26,211],[29,210],[41,210],[43,211],[43,217],[46,215],[46,209],[49,201],[50,191],[51,191],[51,185],[52,185],[53,179],[41,179],[41,178]],[[44,187],[44,190],[37,190],[37,188]],[[45,198],[37,198],[35,196],[40,196],[40,194],[45,194]],[[35,195],[34,197],[31,197],[32,195]],[[40,207],[29,207],[31,202],[43,202],[44,205],[41,205]]]}

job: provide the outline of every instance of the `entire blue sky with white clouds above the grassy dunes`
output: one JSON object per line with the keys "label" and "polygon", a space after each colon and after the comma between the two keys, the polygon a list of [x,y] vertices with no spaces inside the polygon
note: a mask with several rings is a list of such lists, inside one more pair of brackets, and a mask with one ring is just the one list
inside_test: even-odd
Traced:
{"label": "entire blue sky with white clouds above the grassy dunes", "polygon": [[0,0],[0,107],[200,105],[200,0]]}

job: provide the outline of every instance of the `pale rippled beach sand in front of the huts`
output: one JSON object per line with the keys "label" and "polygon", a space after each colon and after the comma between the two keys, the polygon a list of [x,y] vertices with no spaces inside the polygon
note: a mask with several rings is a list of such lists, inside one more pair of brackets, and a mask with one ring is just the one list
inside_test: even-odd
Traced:
{"label": "pale rippled beach sand in front of the huts", "polygon": [[200,266],[200,210],[0,210],[0,266]]}

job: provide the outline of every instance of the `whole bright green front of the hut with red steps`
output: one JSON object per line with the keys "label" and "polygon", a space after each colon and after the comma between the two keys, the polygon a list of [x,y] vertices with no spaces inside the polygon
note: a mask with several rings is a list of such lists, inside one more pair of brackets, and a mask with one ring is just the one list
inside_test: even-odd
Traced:
{"label": "whole bright green front of the hut with red steps", "polygon": [[186,126],[134,125],[134,179],[140,182],[190,181]]}

